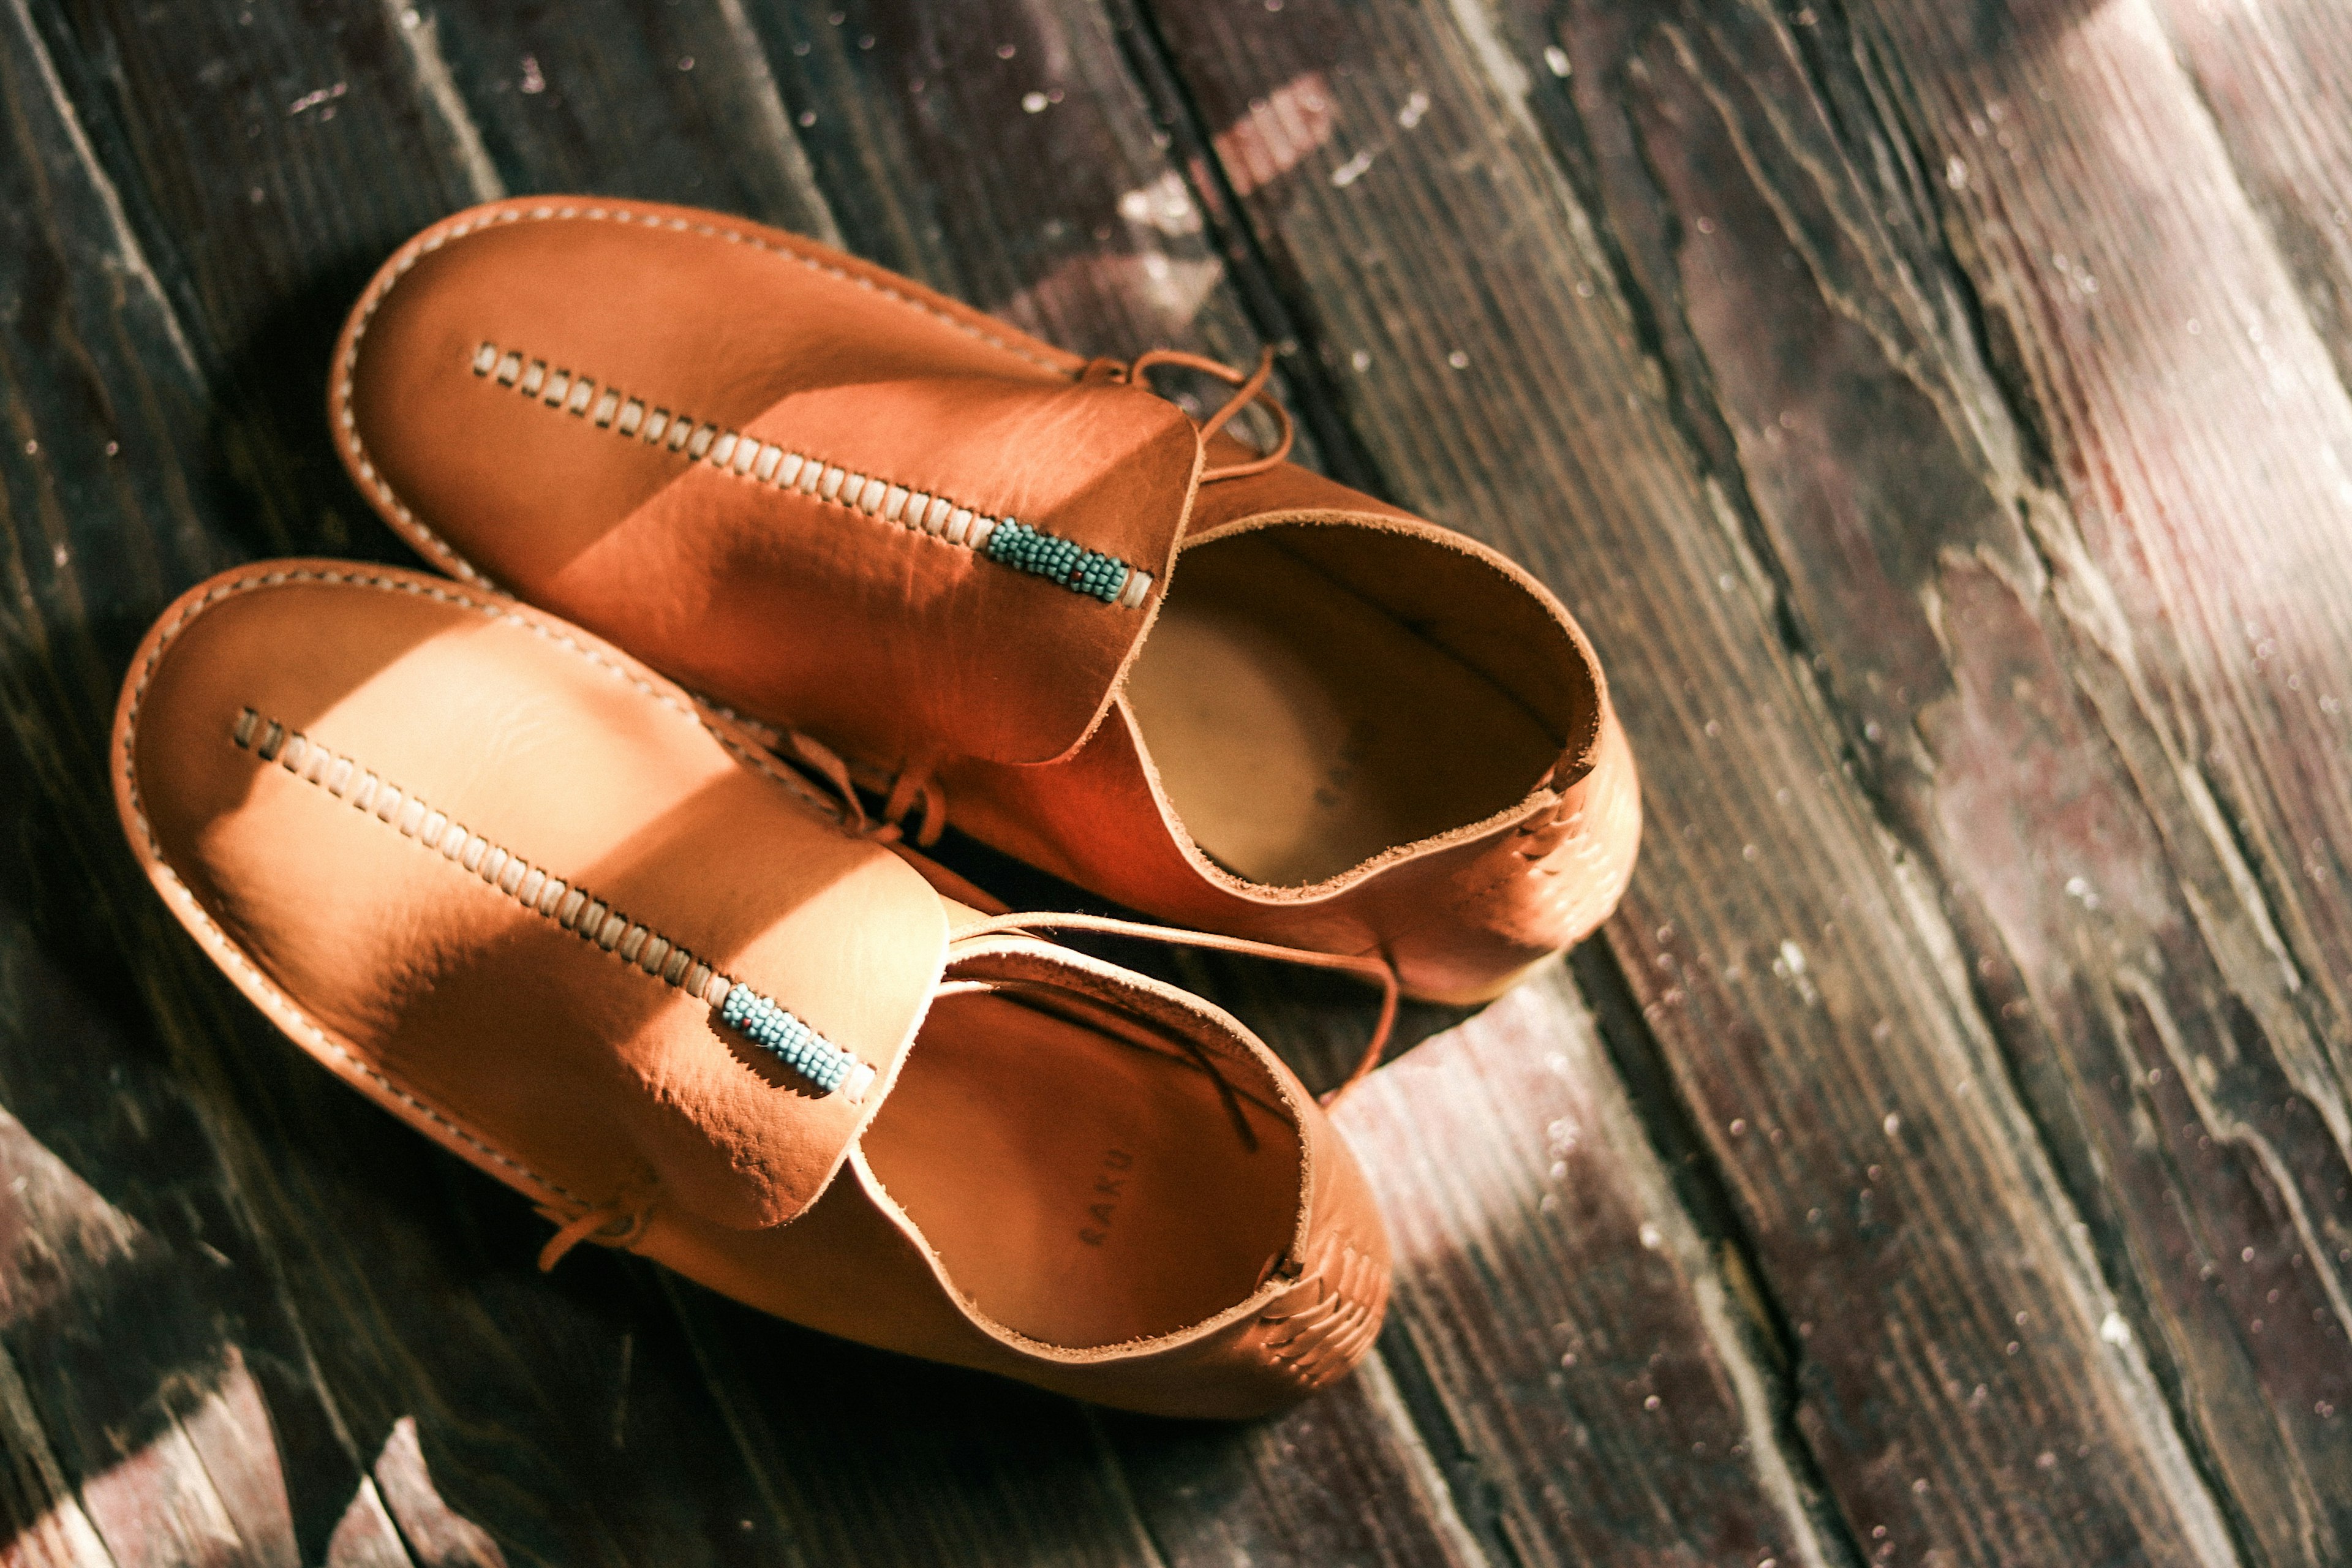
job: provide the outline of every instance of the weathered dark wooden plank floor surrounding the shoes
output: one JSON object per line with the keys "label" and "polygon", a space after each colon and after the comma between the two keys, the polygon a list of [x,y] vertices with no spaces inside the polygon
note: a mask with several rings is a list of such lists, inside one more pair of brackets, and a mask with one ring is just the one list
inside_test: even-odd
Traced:
{"label": "weathered dark wooden plank floor surrounding the shoes", "polygon": [[[0,5],[0,1563],[2352,1563],[2340,0]],[[835,1345],[285,1046],[115,827],[129,649],[405,559],[367,273],[593,190],[1084,353],[1590,628],[1625,910],[1341,1124],[1378,1361],[1256,1427]],[[1362,1001],[1192,978],[1310,1077]]]}

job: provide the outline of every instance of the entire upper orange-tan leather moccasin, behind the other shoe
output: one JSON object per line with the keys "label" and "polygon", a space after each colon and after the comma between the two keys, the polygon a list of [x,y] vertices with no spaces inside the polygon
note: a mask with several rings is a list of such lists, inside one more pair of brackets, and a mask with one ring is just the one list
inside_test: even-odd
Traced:
{"label": "entire upper orange-tan leather moccasin, behind the other shoe", "polygon": [[[1167,362],[1240,390],[1195,425]],[[1084,362],[771,228],[539,197],[383,266],[329,414],[435,567],[814,736],[889,816],[1486,999],[1616,905],[1632,757],[1529,574],[1221,430],[1265,369]]]}

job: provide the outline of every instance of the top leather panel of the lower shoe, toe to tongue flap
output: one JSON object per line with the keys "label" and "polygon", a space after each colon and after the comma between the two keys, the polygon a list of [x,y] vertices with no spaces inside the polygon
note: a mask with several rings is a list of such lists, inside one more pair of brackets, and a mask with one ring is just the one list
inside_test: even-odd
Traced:
{"label": "top leather panel of the lower shoe, toe to tongue flap", "polygon": [[560,623],[334,562],[209,592],[129,788],[247,990],[583,1204],[814,1204],[938,980],[929,884]]}

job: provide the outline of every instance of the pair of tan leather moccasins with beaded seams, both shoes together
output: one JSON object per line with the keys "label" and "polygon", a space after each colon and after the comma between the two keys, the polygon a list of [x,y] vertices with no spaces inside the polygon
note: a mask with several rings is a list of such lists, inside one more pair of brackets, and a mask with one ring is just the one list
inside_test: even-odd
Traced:
{"label": "pair of tan leather moccasins with beaded seams, both shoes together", "polygon": [[[125,830],[296,1044],[541,1206],[546,1262],[1282,1406],[1378,1331],[1362,1173],[1235,1018],[1042,933],[1479,1001],[1609,912],[1639,802],[1557,599],[1282,461],[1265,376],[1087,362],[717,214],[459,214],[329,378],[447,576],[188,592],[125,682]],[[1169,926],[1009,912],[922,853],[950,820]]]}

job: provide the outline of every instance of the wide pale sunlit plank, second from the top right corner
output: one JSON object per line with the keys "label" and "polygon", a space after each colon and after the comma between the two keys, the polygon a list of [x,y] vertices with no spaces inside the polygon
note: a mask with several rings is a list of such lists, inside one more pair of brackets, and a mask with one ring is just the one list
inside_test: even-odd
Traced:
{"label": "wide pale sunlit plank, second from the top right corner", "polygon": [[2241,846],[2303,1023],[2244,1001],[2340,1159],[2352,491],[2333,454],[2352,449],[2352,397],[2145,5],[1985,38],[1879,7],[1856,26],[1898,132],[1940,172],[1945,230],[2105,614],[2161,628],[2124,644],[2133,696]]}

